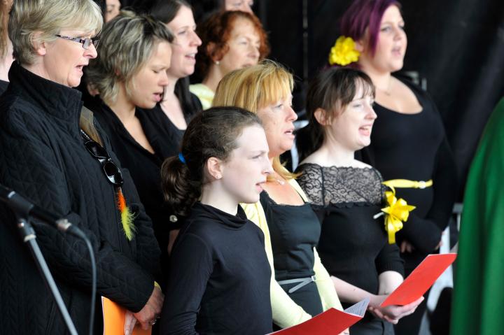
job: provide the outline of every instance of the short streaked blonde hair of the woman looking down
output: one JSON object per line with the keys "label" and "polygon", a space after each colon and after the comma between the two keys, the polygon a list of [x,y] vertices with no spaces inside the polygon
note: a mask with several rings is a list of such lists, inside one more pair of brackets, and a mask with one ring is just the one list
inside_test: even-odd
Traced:
{"label": "short streaked blonde hair of the woman looking down", "polygon": [[105,24],[100,37],[102,48],[85,69],[87,82],[98,90],[106,104],[116,101],[119,83],[125,83],[126,94],[130,95],[135,89],[133,76],[151,58],[156,45],[161,41],[171,43],[173,39],[165,24],[150,15],[121,10]]}

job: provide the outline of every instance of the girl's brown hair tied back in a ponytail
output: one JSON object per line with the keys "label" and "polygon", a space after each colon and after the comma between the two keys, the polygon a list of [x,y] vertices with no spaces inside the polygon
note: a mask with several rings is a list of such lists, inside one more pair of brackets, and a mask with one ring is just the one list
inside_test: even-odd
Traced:
{"label": "girl's brown hair tied back in a ponytail", "polygon": [[182,157],[170,157],[161,166],[162,190],[172,213],[190,213],[201,197],[207,160],[228,159],[243,129],[254,125],[262,127],[259,117],[238,107],[212,107],[193,118],[182,139]]}

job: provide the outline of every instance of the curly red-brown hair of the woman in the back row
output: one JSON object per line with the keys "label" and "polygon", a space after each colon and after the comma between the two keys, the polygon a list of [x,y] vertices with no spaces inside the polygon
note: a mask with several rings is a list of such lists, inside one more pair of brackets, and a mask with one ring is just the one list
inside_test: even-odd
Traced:
{"label": "curly red-brown hair of the woman in the back row", "polygon": [[[228,52],[228,41],[231,37],[232,29],[235,27],[235,22],[239,18],[251,22],[255,32],[259,36],[259,60],[264,59],[269,54],[267,34],[262,28],[262,24],[258,17],[240,10],[228,10],[214,13],[214,15],[211,15],[207,20],[202,22],[202,24],[198,25],[196,29],[197,36],[200,36],[202,40],[202,45],[200,45],[198,53],[196,54],[196,66],[202,78],[207,76],[211,64],[214,63],[214,57],[220,59]],[[215,48],[211,50],[211,52],[207,50],[210,43],[215,44]]]}

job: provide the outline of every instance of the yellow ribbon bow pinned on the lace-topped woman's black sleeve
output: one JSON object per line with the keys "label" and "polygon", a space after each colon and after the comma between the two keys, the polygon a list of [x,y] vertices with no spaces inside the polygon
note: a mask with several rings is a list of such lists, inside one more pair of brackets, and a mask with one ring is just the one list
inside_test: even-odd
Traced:
{"label": "yellow ribbon bow pinned on the lace-topped woman's black sleeve", "polygon": [[[395,243],[395,233],[402,229],[402,222],[406,222],[409,217],[409,212],[413,211],[416,207],[407,204],[405,199],[397,199],[395,197],[395,188],[388,186],[391,191],[385,192],[386,204],[388,206],[381,208],[385,213],[385,230],[388,233],[388,243]],[[381,213],[380,213],[381,214]],[[375,215],[377,218],[379,215]]]}

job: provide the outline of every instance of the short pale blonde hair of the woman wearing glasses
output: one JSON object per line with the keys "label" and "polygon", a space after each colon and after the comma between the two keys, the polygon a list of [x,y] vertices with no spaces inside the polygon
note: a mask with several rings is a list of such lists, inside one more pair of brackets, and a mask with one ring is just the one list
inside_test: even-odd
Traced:
{"label": "short pale blonde hair of the woman wearing glasses", "polygon": [[92,0],[15,0],[8,36],[20,64],[35,61],[34,42],[51,42],[65,29],[96,35],[102,30],[102,10]]}

